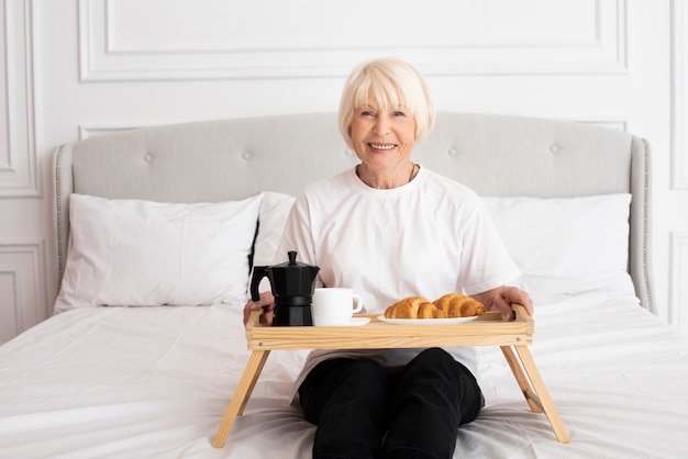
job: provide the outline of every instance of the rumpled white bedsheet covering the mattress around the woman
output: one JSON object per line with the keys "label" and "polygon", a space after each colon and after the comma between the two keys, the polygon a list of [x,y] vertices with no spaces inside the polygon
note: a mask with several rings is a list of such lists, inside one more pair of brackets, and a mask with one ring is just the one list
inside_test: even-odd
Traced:
{"label": "rumpled white bedsheet covering the mattress around the woman", "polygon": [[[501,351],[479,348],[487,405],[455,457],[685,457],[688,340],[618,294],[536,304],[531,350],[570,443],[529,411]],[[211,446],[248,357],[241,317],[92,307],[22,334],[0,347],[0,457],[310,457],[314,427],[288,404],[307,350],[273,351],[226,446]]]}

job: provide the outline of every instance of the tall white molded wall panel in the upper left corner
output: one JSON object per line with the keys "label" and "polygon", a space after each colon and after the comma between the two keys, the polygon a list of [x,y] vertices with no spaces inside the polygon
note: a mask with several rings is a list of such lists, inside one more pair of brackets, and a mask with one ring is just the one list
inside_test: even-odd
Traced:
{"label": "tall white molded wall panel in the upper left corner", "polygon": [[[5,75],[0,125],[0,198],[41,197],[33,107],[33,1],[0,0],[0,71]],[[4,46],[1,46],[4,44]],[[2,54],[4,54],[2,56]]]}

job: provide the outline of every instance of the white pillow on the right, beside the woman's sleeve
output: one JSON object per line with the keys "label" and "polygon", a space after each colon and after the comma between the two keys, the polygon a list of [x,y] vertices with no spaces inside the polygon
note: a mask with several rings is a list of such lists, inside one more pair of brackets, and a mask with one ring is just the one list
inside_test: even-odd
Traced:
{"label": "white pillow on the right, beside the woman's sleeve", "polygon": [[535,294],[611,290],[633,294],[628,269],[631,194],[484,198],[514,262]]}

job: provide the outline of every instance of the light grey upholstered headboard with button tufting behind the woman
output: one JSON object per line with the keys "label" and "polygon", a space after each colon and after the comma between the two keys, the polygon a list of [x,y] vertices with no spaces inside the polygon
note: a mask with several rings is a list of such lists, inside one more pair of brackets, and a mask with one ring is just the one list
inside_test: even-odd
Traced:
{"label": "light grey upholstered headboard with button tufting behind the woman", "polygon": [[[125,131],[55,150],[55,219],[64,269],[73,192],[113,199],[218,202],[259,191],[296,194],[357,163],[334,113],[195,122]],[[566,121],[440,113],[413,160],[481,195],[632,193],[629,272],[653,309],[650,148],[631,134]]]}

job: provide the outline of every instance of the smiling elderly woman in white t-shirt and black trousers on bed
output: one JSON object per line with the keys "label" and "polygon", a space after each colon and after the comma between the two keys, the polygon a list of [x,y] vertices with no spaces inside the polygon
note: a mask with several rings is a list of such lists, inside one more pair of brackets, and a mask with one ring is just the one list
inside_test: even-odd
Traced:
{"label": "smiling elderly woman in white t-shirt and black trousers on bed", "polygon": [[[468,188],[414,164],[434,108],[409,64],[380,59],[349,76],[340,130],[360,164],[308,186],[293,204],[278,254],[321,268],[319,284],[347,287],[365,312],[398,300],[463,292],[512,318],[530,296],[504,287],[520,276],[489,215]],[[279,260],[281,261],[281,260]],[[245,315],[274,299],[263,293]],[[469,349],[464,349],[468,351]],[[457,429],[484,398],[470,370],[444,349],[315,350],[297,381],[314,458],[450,458]]]}

